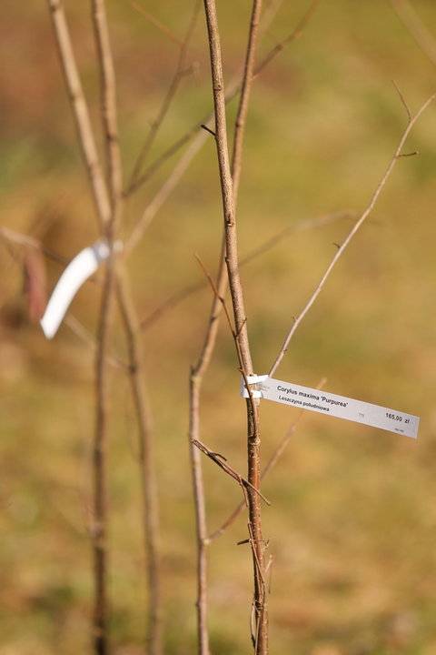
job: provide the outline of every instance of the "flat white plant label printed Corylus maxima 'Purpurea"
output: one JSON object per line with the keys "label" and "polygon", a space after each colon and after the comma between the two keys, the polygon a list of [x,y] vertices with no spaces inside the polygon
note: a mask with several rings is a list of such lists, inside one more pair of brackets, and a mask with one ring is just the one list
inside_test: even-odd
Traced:
{"label": "flat white plant label printed Corylus maxima 'Purpurea", "polygon": [[[263,379],[259,380],[259,378]],[[256,376],[255,381],[248,378],[248,382],[256,384],[257,390],[260,391],[260,398],[291,405],[291,407],[309,409],[328,416],[345,418],[372,426],[372,428],[397,432],[406,437],[418,437],[420,419],[397,409],[372,405],[372,403],[337,396],[319,389],[301,387],[290,382],[268,378],[268,376]],[[248,398],[248,392],[244,385],[242,395]],[[257,394],[255,397],[259,398]]]}

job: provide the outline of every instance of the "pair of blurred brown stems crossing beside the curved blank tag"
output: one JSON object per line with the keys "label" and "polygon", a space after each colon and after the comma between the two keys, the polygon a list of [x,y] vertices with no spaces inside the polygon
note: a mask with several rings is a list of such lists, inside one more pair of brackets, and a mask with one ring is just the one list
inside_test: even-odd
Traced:
{"label": "pair of blurred brown stems crossing beside the curved blank tag", "polygon": [[[114,301],[114,282],[119,277],[114,260],[114,240],[122,217],[122,166],[118,143],[116,118],[115,76],[109,41],[104,0],[93,0],[92,19],[97,44],[98,65],[101,79],[101,119],[104,130],[107,181],[100,166],[94,132],[84,99],[83,88],[75,63],[74,52],[61,0],[48,0],[54,35],[64,71],[65,84],[73,108],[78,140],[83,152],[88,179],[93,190],[94,203],[99,218],[100,234],[110,249],[105,267],[104,287],[97,334],[95,359],[95,431],[94,431],[94,516],[91,537],[94,549],[94,650],[106,655],[108,639],[108,548],[107,548],[107,407],[109,399],[108,350]],[[109,189],[109,191],[108,191]],[[162,652],[162,611],[157,553],[157,494],[154,467],[151,461],[151,431],[148,408],[144,397],[144,373],[137,330],[134,328],[134,312],[130,291],[117,284],[120,305],[123,309],[124,328],[129,343],[130,368],[134,404],[140,434],[140,466],[144,503],[145,549],[148,562],[148,620],[147,653]],[[146,461],[145,461],[146,459]]]}

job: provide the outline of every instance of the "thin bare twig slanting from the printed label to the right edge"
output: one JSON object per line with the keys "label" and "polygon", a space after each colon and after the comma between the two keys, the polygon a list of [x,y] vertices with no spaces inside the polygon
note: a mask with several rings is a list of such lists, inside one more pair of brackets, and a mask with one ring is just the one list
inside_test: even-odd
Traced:
{"label": "thin bare twig slanting from the printed label to the right edge", "polygon": [[379,184],[377,185],[377,187],[376,187],[376,189],[375,189],[375,191],[374,191],[374,193],[372,195],[370,204],[368,205],[368,207],[366,207],[366,209],[362,213],[362,216],[356,221],[356,223],[352,227],[352,230],[349,232],[348,236],[343,241],[342,245],[340,247],[338,247],[334,257],[332,258],[331,263],[329,264],[329,266],[325,270],[324,274],[322,275],[322,278],[321,278],[318,286],[313,291],[312,297],[310,297],[310,299],[307,302],[306,306],[302,309],[302,312],[300,313],[300,315],[298,317],[296,317],[295,320],[293,321],[292,328],[289,330],[286,338],[284,339],[283,344],[282,344],[282,348],[280,349],[277,357],[274,360],[274,363],[272,364],[270,372],[268,373],[268,375],[270,377],[272,377],[275,370],[277,369],[277,367],[281,363],[282,358],[284,357],[284,354],[285,354],[285,352],[286,352],[286,350],[287,350],[287,348],[289,346],[289,343],[290,343],[293,335],[295,334],[296,329],[299,327],[300,323],[302,322],[302,319],[306,316],[307,312],[312,307],[312,305],[315,302],[316,298],[320,295],[320,293],[322,291],[322,287],[324,286],[324,284],[327,281],[328,277],[332,273],[332,269],[335,267],[337,261],[339,260],[340,257],[342,257],[343,251],[350,244],[350,242],[352,241],[352,237],[354,237],[354,235],[357,233],[359,228],[362,226],[362,223],[371,214],[372,209],[373,209],[375,203],[377,202],[378,197],[381,194],[382,188],[385,186],[386,182],[388,181],[389,177],[391,176],[391,172],[393,170],[393,167],[397,163],[398,159],[401,157],[401,150],[402,150],[402,148],[404,146],[404,143],[405,143],[407,137],[409,136],[409,134],[411,132],[411,128],[415,125],[416,121],[420,118],[421,114],[427,109],[427,107],[431,105],[431,103],[433,102],[435,97],[436,97],[436,94],[431,96],[430,98],[428,98],[428,100],[425,101],[425,103],[421,106],[421,108],[418,110],[418,112],[414,116],[410,117],[410,119],[408,121],[408,124],[406,126],[406,129],[404,130],[404,132],[403,132],[403,134],[401,136],[400,143],[397,146],[397,149],[395,150],[395,153],[391,158],[391,162],[390,162],[389,166],[387,167],[384,175],[381,177],[381,180],[380,180]]}

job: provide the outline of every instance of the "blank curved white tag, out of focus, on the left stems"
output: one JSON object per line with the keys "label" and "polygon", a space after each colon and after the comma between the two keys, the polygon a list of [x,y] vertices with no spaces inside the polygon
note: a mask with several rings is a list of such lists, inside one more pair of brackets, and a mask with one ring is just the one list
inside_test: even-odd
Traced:
{"label": "blank curved white tag, out of focus, on the left stems", "polygon": [[[121,243],[117,242],[114,249],[120,250]],[[95,273],[100,263],[109,257],[109,252],[105,241],[97,241],[94,246],[81,250],[65,268],[40,321],[46,338],[54,338],[75,294],[84,281]]]}

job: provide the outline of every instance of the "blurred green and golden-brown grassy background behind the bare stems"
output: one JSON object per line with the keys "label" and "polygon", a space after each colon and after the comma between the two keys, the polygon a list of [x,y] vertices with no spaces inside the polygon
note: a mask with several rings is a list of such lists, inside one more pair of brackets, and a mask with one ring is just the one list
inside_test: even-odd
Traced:
{"label": "blurred green and golden-brown grassy background behind the bare stems", "polygon": [[[68,2],[75,52],[98,129],[98,77],[87,3]],[[274,3],[275,5],[276,3]],[[436,35],[436,6],[411,3]],[[193,3],[144,9],[183,38]],[[260,56],[292,32],[308,0],[283,2]],[[143,5],[141,5],[143,6]],[[272,0],[266,9],[272,8]],[[249,0],[219,3],[226,79],[241,69]],[[129,173],[173,76],[179,46],[129,2],[109,0],[124,166]],[[45,3],[0,8],[2,224],[37,237],[67,262],[97,237],[74,123]],[[211,108],[203,15],[186,76],[152,161]],[[241,254],[285,227],[364,209],[407,116],[436,91],[436,69],[389,2],[323,0],[302,36],[255,83],[238,217]],[[352,242],[292,341],[276,377],[421,416],[418,441],[310,414],[264,493],[273,554],[272,652],[339,655],[436,653],[436,336],[434,243],[436,107],[372,217]],[[234,105],[229,109],[233,116]],[[232,121],[230,121],[232,125]],[[230,128],[231,129],[231,128]],[[128,234],[176,158],[129,202]],[[257,372],[282,338],[351,227],[350,218],[295,232],[243,269]],[[222,226],[213,139],[193,161],[134,252],[140,316],[216,269]],[[47,342],[28,317],[20,250],[0,242],[0,651],[90,652],[90,504],[94,352],[63,326]],[[50,289],[63,265],[46,260]],[[94,333],[100,287],[88,283],[72,313]],[[203,339],[211,292],[188,297],[144,330],[160,490],[165,651],[193,653],[195,547],[187,444],[189,367]],[[124,337],[114,332],[114,353]],[[204,394],[202,438],[244,470],[244,407],[233,340],[223,325]],[[114,652],[142,652],[146,593],[134,408],[128,379],[112,380],[110,588]],[[262,406],[268,459],[295,410]],[[240,489],[204,462],[211,529]],[[210,550],[214,655],[248,652],[252,596],[245,520]]]}

